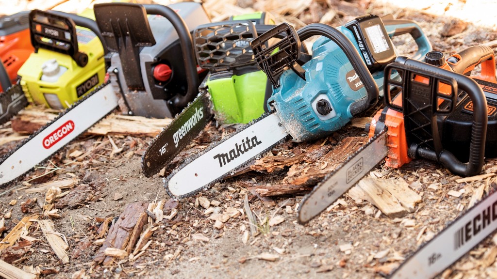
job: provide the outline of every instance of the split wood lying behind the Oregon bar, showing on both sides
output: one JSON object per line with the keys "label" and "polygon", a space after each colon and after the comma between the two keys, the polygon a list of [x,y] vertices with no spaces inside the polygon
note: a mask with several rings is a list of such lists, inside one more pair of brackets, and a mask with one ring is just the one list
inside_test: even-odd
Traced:
{"label": "split wood lying behind the Oregon bar, showing on both sides", "polygon": [[[32,134],[57,115],[43,110],[25,109],[12,119],[12,130],[22,134]],[[155,137],[172,119],[150,119],[141,116],[110,114],[86,131],[87,135],[126,135],[135,137]]]}

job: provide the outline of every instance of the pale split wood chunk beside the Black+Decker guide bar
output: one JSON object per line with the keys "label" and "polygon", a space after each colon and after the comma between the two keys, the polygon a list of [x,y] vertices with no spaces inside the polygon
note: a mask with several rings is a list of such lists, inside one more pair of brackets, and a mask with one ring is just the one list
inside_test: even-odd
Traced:
{"label": "pale split wood chunk beside the Black+Decker guide bar", "polygon": [[402,217],[407,214],[407,210],[397,201],[397,199],[387,190],[381,189],[375,179],[366,177],[357,184],[366,192],[367,200],[380,209],[385,215],[391,217]]}

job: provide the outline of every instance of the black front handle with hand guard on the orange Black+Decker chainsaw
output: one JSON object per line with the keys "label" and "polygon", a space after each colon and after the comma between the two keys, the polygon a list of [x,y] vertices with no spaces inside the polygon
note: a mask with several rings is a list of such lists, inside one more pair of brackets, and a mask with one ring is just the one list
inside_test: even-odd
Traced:
{"label": "black front handle with hand guard on the orange Black+Decker chainsaw", "polygon": [[[433,143],[435,146],[435,150],[420,147],[414,144],[415,149],[413,150],[413,144],[409,146],[410,156],[421,157],[425,159],[430,159],[434,161],[438,161],[443,164],[449,171],[455,173],[460,176],[473,176],[477,175],[481,172],[485,159],[485,141],[487,137],[487,123],[488,123],[488,112],[487,112],[487,99],[485,94],[472,78],[469,78],[463,74],[452,72],[450,70],[444,70],[442,68],[432,66],[423,62],[419,62],[413,59],[409,59],[407,57],[398,57],[395,63],[388,65],[385,69],[386,73],[389,73],[392,70],[400,70],[403,71],[401,75],[402,77],[402,90],[403,90],[403,106],[404,110],[404,118],[410,117],[407,114],[412,114],[411,112],[406,112],[406,102],[409,102],[409,94],[406,94],[408,86],[411,86],[414,81],[414,75],[420,74],[430,78],[431,82],[431,116],[428,115],[426,118],[429,118],[431,121],[431,129],[433,136]],[[391,107],[391,96],[390,92],[390,84],[400,85],[399,82],[395,83],[392,81],[387,81],[389,74],[385,74],[385,102],[387,106]],[[438,133],[438,125],[437,125],[437,115],[448,115],[454,110],[455,102],[450,105],[450,111],[447,110],[439,110],[437,101],[439,98],[444,98],[443,93],[439,93],[438,86],[440,83],[438,81],[447,82],[452,85],[452,97],[454,99],[457,97],[458,88],[464,90],[468,96],[471,98],[473,102],[474,110],[473,110],[473,126],[471,130],[471,144],[470,144],[470,155],[469,162],[463,163],[456,156],[446,150],[443,149],[441,139]],[[416,91],[416,90],[414,90]],[[419,92],[413,91],[413,97],[416,97],[415,94],[419,94]],[[390,97],[389,97],[390,96]],[[395,109],[395,108],[394,108]],[[405,123],[408,123],[405,120]],[[408,127],[406,127],[406,133],[412,133],[412,131],[408,131]],[[426,139],[421,139],[426,140]],[[422,143],[422,142],[421,142]],[[416,148],[418,147],[418,148]]]}

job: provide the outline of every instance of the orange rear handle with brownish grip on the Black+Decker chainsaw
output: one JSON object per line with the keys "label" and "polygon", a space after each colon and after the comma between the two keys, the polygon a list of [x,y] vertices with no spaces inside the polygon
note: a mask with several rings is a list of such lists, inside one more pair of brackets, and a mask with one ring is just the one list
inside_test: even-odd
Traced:
{"label": "orange rear handle with brownish grip on the Black+Decker chainsaw", "polygon": [[[483,64],[482,64],[483,63]],[[469,75],[479,64],[482,64],[480,78],[497,83],[496,61],[494,50],[488,46],[472,46],[447,59],[449,67],[459,73]]]}

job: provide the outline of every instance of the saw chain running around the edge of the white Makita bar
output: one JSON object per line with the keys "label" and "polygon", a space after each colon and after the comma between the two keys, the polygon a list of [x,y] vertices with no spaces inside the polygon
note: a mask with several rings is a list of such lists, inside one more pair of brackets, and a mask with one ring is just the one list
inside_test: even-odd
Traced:
{"label": "saw chain running around the edge of the white Makita bar", "polygon": [[[259,122],[260,120],[264,119],[265,117],[267,117],[267,116],[268,116],[268,115],[270,115],[270,114],[271,114],[271,113],[267,113],[267,112],[266,112],[266,113],[264,113],[261,117],[259,117],[259,118],[255,119],[255,120],[252,120],[252,121],[250,121],[250,123],[248,123],[247,125],[243,126],[243,127],[242,127],[242,129],[241,129],[240,131],[245,130],[246,128],[248,128],[248,127],[250,127],[250,126],[254,125],[255,123]],[[214,147],[218,146],[219,144],[222,144],[224,141],[226,141],[226,140],[230,139],[231,137],[235,136],[235,135],[236,135],[236,134],[238,134],[238,133],[239,133],[239,131],[237,131],[237,132],[235,132],[235,133],[232,133],[232,134],[230,134],[230,135],[228,135],[228,136],[224,137],[223,139],[221,139],[221,140],[219,140],[219,141],[213,142],[213,143],[211,143],[211,145],[210,145],[208,148],[206,148],[205,150],[203,150],[203,151],[201,151],[201,152],[199,152],[199,153],[197,153],[197,154],[195,154],[195,155],[191,156],[191,157],[190,157],[190,158],[188,158],[188,159],[185,159],[185,161],[184,161],[184,162],[183,162],[180,166],[178,166],[176,169],[174,169],[174,170],[173,170],[173,171],[172,171],[172,172],[171,172],[171,173],[167,176],[167,178],[164,178],[164,187],[166,188],[166,192],[167,192],[167,194],[168,194],[170,197],[172,197],[172,198],[174,198],[174,199],[178,199],[178,200],[179,200],[179,199],[182,199],[182,198],[186,198],[186,197],[193,196],[193,195],[197,194],[197,193],[198,193],[198,192],[200,192],[200,191],[203,191],[203,190],[208,190],[208,189],[210,189],[213,185],[215,185],[216,183],[218,183],[218,182],[222,181],[225,177],[227,177],[227,176],[231,176],[231,175],[233,175],[233,173],[237,172],[239,169],[242,169],[242,168],[246,167],[247,165],[249,165],[249,164],[252,162],[252,160],[253,160],[253,159],[260,158],[263,154],[265,154],[267,151],[271,150],[274,146],[278,145],[278,144],[279,144],[279,143],[281,143],[281,142],[284,142],[284,141],[288,140],[288,139],[291,137],[290,135],[288,135],[288,136],[286,136],[285,138],[280,139],[280,140],[278,140],[278,141],[274,142],[274,144],[272,144],[272,145],[271,145],[271,146],[269,146],[268,148],[264,149],[262,152],[259,152],[257,155],[255,155],[255,156],[253,156],[253,157],[249,158],[247,161],[245,161],[245,163],[243,163],[243,164],[241,164],[241,165],[237,166],[236,168],[231,169],[230,171],[226,172],[224,175],[222,175],[222,176],[218,177],[217,179],[215,179],[215,180],[213,180],[212,182],[210,182],[210,183],[208,183],[208,184],[204,185],[203,187],[200,187],[199,189],[197,189],[197,190],[195,190],[195,191],[192,191],[192,192],[190,192],[190,193],[188,193],[188,194],[181,195],[181,196],[175,196],[175,195],[171,194],[171,192],[169,191],[169,188],[167,187],[167,185],[168,185],[169,180],[171,179],[171,177],[172,177],[174,174],[176,174],[178,171],[180,171],[180,170],[181,170],[182,168],[184,168],[186,165],[188,165],[189,163],[193,162],[193,161],[194,161],[194,160],[196,160],[198,157],[202,156],[203,154],[205,154],[206,152],[208,152],[208,151],[209,151],[209,150],[211,150],[212,148],[214,148]]]}

